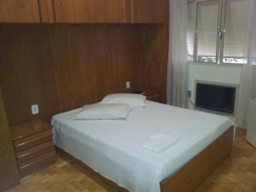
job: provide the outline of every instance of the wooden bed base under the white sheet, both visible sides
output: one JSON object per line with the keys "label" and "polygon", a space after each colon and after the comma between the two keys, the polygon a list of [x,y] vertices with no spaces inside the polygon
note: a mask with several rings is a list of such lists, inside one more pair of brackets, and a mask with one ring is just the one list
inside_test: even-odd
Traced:
{"label": "wooden bed base under the white sheet, both visible sides", "polygon": [[[223,135],[218,137],[207,148],[197,154],[187,164],[182,166],[172,177],[166,178],[160,182],[161,192],[191,192],[193,191],[212,170],[219,164],[221,160],[226,158],[233,145],[234,126],[225,131]],[[89,166],[86,166],[81,160],[77,160],[71,154],[56,147],[56,151],[64,155],[68,160],[79,165],[82,171],[92,175],[97,182],[102,183],[108,189],[119,192],[129,192],[127,189],[119,187],[116,183],[102,177],[99,173],[94,172]]]}

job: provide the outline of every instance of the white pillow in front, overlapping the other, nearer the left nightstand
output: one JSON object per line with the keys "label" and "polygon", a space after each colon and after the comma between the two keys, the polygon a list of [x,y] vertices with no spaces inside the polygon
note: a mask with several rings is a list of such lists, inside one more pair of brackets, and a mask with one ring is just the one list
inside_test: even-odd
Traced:
{"label": "white pillow in front, overlapping the other, nearer the left nightstand", "polygon": [[75,119],[127,119],[129,105],[96,103],[85,105]]}

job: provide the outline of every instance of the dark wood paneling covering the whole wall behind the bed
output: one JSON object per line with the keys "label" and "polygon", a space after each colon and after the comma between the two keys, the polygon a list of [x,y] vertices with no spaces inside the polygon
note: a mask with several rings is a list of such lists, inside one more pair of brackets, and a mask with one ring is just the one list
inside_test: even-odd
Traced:
{"label": "dark wood paneling covering the whole wall behind the bed", "polygon": [[[50,3],[43,2],[41,12]],[[159,90],[160,102],[166,102],[168,9],[164,12],[164,24],[157,25],[0,26],[0,83],[9,124],[49,121],[108,93],[129,91],[126,81],[131,90]],[[38,104],[37,115],[32,104]]]}

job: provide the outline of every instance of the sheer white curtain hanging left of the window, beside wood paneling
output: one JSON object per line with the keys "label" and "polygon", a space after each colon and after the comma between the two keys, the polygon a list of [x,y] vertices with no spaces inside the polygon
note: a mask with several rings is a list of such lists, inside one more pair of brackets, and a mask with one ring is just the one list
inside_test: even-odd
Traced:
{"label": "sheer white curtain hanging left of the window, beside wood paneling", "polygon": [[170,0],[167,103],[187,108],[187,0]]}

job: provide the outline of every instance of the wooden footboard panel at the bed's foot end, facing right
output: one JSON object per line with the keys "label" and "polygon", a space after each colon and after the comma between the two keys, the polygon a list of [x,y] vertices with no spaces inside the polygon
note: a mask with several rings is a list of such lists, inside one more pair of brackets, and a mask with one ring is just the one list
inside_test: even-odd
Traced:
{"label": "wooden footboard panel at the bed's foot end, facing right", "polygon": [[190,192],[194,190],[221,160],[226,158],[233,146],[234,127],[230,127],[207,148],[181,167],[172,177],[160,183],[161,192]]}

